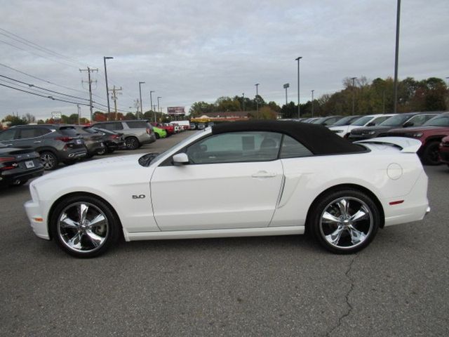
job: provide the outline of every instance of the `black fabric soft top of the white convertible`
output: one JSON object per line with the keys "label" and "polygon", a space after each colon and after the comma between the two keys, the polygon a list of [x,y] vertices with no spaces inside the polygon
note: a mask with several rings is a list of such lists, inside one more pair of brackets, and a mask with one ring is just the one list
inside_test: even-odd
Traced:
{"label": "black fabric soft top of the white convertible", "polygon": [[344,154],[365,152],[356,145],[330,131],[326,126],[300,123],[299,121],[234,121],[215,124],[212,133],[272,131],[286,134],[302,143],[314,154]]}

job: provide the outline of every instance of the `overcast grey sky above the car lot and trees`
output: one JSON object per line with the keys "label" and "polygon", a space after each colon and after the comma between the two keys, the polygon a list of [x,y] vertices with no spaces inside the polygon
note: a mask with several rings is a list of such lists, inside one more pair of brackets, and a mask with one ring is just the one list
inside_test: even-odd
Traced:
{"label": "overcast grey sky above the car lot and trees", "polygon": [[[264,100],[279,104],[290,83],[288,100],[297,102],[298,56],[302,103],[312,89],[315,98],[341,90],[345,77],[394,77],[394,0],[0,0],[0,8],[0,75],[87,99],[81,84],[87,75],[79,68],[98,68],[94,100],[106,105],[103,56],[112,56],[109,88],[123,87],[118,102],[126,111],[135,111],[139,81],[146,82],[144,111],[150,90],[165,112],[223,95],[252,98],[256,83]],[[449,77],[448,19],[447,0],[402,1],[400,79]],[[0,84],[29,90],[4,77]],[[11,113],[46,119],[54,111],[76,113],[76,105],[0,86],[0,119]],[[88,107],[81,114],[88,117]]]}

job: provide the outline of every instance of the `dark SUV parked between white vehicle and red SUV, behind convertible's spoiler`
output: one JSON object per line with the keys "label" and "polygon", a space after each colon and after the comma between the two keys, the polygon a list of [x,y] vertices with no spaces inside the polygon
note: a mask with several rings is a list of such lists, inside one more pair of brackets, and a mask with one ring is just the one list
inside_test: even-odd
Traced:
{"label": "dark SUV parked between white vehicle and red SUV, behind convertible's spoiler", "polygon": [[382,121],[378,126],[368,126],[365,128],[354,128],[349,133],[348,139],[351,142],[356,140],[363,140],[375,138],[381,133],[385,133],[393,128],[410,128],[411,126],[422,126],[426,121],[436,116],[431,112],[407,112],[403,114],[396,114],[385,121]]}

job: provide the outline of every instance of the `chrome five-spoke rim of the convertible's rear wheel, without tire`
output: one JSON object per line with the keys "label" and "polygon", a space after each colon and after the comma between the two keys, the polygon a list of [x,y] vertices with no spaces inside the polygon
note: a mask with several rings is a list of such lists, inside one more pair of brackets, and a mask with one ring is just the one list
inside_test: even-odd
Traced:
{"label": "chrome five-spoke rim of the convertible's rear wheel, without tire", "polygon": [[360,246],[370,237],[373,228],[373,211],[356,197],[335,199],[321,213],[321,235],[337,249],[351,250]]}

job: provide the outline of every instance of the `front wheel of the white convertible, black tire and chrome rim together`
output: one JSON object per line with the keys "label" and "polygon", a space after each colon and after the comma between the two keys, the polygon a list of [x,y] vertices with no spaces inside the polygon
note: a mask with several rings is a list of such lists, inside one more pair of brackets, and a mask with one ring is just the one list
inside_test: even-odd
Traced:
{"label": "front wheel of the white convertible, black tire and chrome rim together", "polygon": [[[84,219],[80,214],[85,214]],[[100,220],[93,225],[94,219]],[[93,258],[105,253],[119,238],[120,229],[111,207],[90,195],[63,199],[51,215],[53,239],[63,251],[76,258]]]}

